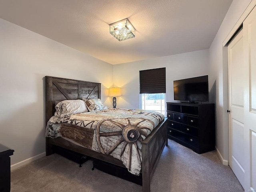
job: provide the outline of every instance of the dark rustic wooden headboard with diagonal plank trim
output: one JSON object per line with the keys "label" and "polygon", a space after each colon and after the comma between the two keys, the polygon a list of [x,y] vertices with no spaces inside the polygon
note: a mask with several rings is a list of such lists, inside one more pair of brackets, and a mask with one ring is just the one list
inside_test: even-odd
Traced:
{"label": "dark rustic wooden headboard with diagonal plank trim", "polygon": [[45,76],[46,124],[54,115],[55,101],[100,98],[100,83]]}

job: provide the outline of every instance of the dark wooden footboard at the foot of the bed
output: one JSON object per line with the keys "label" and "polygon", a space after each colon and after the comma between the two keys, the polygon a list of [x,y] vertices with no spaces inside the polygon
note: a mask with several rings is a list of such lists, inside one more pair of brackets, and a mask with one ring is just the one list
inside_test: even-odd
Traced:
{"label": "dark wooden footboard at the foot of the bed", "polygon": [[142,141],[142,191],[150,192],[150,181],[164,150],[168,146],[167,118]]}

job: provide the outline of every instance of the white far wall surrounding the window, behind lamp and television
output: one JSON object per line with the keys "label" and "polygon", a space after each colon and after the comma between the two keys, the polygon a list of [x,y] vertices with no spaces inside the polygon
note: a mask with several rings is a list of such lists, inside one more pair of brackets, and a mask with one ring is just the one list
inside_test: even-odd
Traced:
{"label": "white far wall surrounding the window, behind lamp and television", "polygon": [[208,50],[188,52],[113,66],[114,86],[121,88],[118,108],[139,108],[139,71],[166,67],[166,102],[174,101],[173,80],[208,74]]}

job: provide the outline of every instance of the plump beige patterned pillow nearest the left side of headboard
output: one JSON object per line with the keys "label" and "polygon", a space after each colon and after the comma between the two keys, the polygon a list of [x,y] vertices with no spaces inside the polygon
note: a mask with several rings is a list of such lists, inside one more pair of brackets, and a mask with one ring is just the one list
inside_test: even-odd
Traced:
{"label": "plump beige patterned pillow nearest the left side of headboard", "polygon": [[88,112],[88,109],[83,100],[64,100],[58,102],[55,106],[56,112],[54,115],[64,117],[65,115],[72,115],[77,113]]}

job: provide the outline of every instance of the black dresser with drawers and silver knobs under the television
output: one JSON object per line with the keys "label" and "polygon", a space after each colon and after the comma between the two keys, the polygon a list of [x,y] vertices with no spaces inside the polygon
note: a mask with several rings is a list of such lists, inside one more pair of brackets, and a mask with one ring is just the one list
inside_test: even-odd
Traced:
{"label": "black dresser with drawers and silver knobs under the television", "polygon": [[198,154],[215,150],[214,104],[167,102],[168,138]]}

